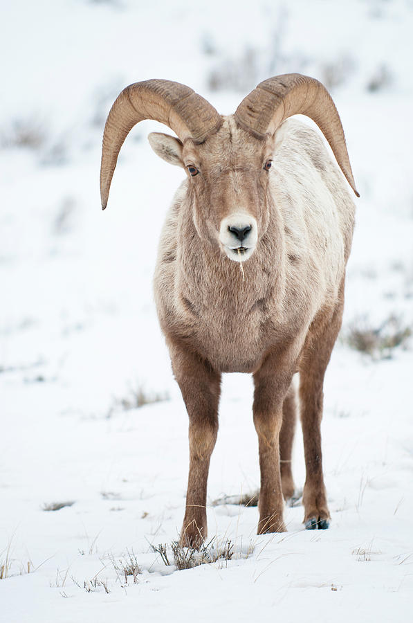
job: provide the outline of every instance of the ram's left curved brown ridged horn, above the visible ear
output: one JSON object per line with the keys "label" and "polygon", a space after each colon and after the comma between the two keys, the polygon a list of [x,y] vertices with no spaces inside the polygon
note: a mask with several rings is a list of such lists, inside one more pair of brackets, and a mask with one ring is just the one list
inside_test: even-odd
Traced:
{"label": "ram's left curved brown ridged horn, above the visible ear", "polygon": [[100,165],[102,210],[107,206],[120,147],[134,125],[144,119],[165,123],[181,141],[192,138],[194,143],[203,143],[222,123],[214,107],[184,84],[170,80],[129,84],[113,103],[104,127]]}

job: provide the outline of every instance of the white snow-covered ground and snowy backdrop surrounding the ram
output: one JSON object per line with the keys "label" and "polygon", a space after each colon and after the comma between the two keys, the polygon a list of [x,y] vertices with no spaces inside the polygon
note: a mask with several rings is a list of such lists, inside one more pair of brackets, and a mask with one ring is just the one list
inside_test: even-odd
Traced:
{"label": "white snow-covered ground and snowy backdrop surrounding the ram", "polygon": [[[407,620],[412,344],[372,359],[345,336],[413,324],[412,2],[15,0],[0,23],[1,621]],[[331,529],[305,531],[297,505],[287,533],[257,536],[255,507],[212,505],[259,484],[252,384],[226,375],[208,525],[233,556],[178,571],[151,548],[178,536],[188,462],[152,272],[183,173],[141,123],[102,214],[102,127],[130,82],[178,80],[230,113],[286,71],[331,87],[362,195],[325,386]],[[125,408],[139,389],[169,399]],[[136,584],[115,568],[128,552]]]}

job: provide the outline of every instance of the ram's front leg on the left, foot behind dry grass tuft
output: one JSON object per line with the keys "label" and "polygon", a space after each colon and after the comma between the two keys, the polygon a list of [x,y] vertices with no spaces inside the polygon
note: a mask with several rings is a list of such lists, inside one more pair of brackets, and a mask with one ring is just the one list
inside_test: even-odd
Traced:
{"label": "ram's front leg on the left, foot behind dry grass tuft", "polygon": [[174,344],[169,350],[190,419],[190,473],[181,545],[196,547],[207,536],[207,482],[210,458],[217,440],[221,374],[181,345]]}

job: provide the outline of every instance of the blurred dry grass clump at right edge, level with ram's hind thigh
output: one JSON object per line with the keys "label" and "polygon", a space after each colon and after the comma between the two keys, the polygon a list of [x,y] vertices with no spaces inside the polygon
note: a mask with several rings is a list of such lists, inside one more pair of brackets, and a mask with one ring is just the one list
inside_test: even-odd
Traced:
{"label": "blurred dry grass clump at right edge, level with ram's hind thigh", "polygon": [[345,332],[344,341],[373,359],[390,359],[394,348],[406,348],[411,336],[412,327],[391,315],[378,326],[371,325],[366,318],[356,320]]}

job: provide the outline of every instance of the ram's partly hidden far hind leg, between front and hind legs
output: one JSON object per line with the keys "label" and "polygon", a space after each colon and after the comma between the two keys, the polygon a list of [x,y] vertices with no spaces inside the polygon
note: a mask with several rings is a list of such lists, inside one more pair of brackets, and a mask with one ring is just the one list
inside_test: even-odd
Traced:
{"label": "ram's partly hidden far hind leg, between front and hind legs", "polygon": [[291,383],[282,405],[282,426],[281,431],[279,431],[279,471],[284,500],[293,498],[295,491],[291,461],[295,423],[297,421],[296,393],[295,386]]}

